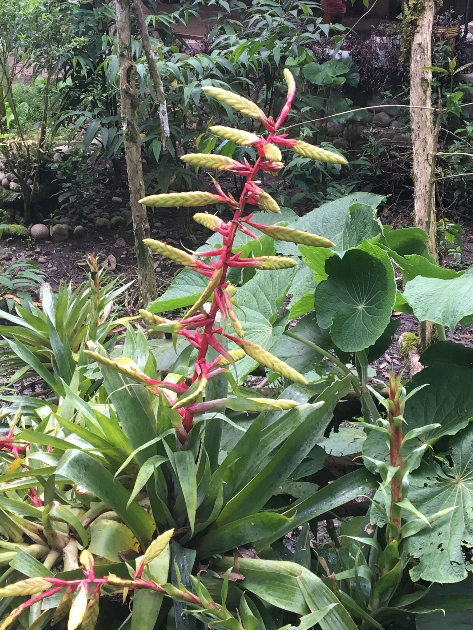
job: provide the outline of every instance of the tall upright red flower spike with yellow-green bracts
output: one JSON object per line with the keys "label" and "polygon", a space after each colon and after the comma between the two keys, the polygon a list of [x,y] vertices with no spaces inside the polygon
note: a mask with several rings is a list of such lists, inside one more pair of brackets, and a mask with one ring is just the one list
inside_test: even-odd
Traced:
{"label": "tall upright red flower spike with yellow-green bracts", "polygon": [[[317,247],[332,247],[333,243],[328,239],[310,234],[310,232],[300,231],[291,227],[278,225],[265,225],[252,221],[252,214],[243,215],[247,204],[255,205],[259,209],[280,214],[281,210],[269,193],[261,187],[258,180],[259,171],[277,173],[282,167],[282,155],[279,147],[288,147],[296,153],[333,164],[346,164],[346,159],[340,155],[312,146],[303,140],[291,139],[287,134],[278,134],[278,129],[286,119],[291,104],[294,100],[296,84],[288,69],[284,70],[284,79],[288,85],[288,95],[286,103],[279,114],[276,122],[272,117],[267,117],[259,106],[242,96],[233,94],[221,88],[212,86],[202,88],[207,95],[215,98],[221,103],[230,105],[238,112],[251,118],[259,120],[266,128],[267,135],[256,135],[247,131],[231,129],[230,127],[214,126],[210,130],[219,137],[232,140],[236,144],[243,146],[253,146],[257,149],[258,158],[251,166],[247,159],[239,162],[231,157],[211,155],[204,153],[191,153],[182,156],[188,164],[196,166],[206,166],[218,170],[231,171],[240,176],[246,177],[240,198],[237,200],[229,193],[225,193],[221,186],[214,181],[216,192],[184,192],[168,193],[162,195],[151,195],[141,199],[141,203],[147,206],[157,207],[180,207],[180,206],[203,206],[213,203],[225,203],[233,210],[231,221],[223,221],[214,214],[197,212],[194,219],[200,224],[208,227],[214,232],[221,234],[223,245],[221,248],[200,251],[190,254],[182,249],[174,248],[161,241],[145,239],[144,243],[155,251],[171,260],[185,265],[196,273],[209,278],[206,289],[199,297],[194,306],[180,319],[166,319],[148,311],[140,311],[144,321],[150,329],[160,332],[182,335],[198,349],[197,360],[194,363],[194,374],[189,385],[184,379],[181,382],[173,383],[166,381],[156,381],[147,377],[137,366],[127,358],[112,361],[90,352],[96,360],[105,363],[114,369],[119,369],[132,379],[142,382],[148,389],[156,395],[162,391],[164,396],[172,403],[173,410],[177,410],[179,418],[175,420],[174,426],[180,442],[185,445],[187,435],[192,429],[195,413],[203,413],[216,408],[218,401],[196,402],[196,399],[204,392],[207,382],[218,374],[228,372],[229,364],[248,355],[260,364],[279,372],[283,376],[293,381],[305,383],[302,374],[291,368],[288,364],[274,357],[259,345],[247,341],[244,338],[243,327],[233,310],[233,290],[234,287],[226,280],[226,273],[229,268],[253,267],[256,269],[277,270],[295,266],[297,263],[291,258],[282,256],[256,256],[255,258],[243,258],[241,252],[232,253],[233,241],[238,231],[247,234],[250,238],[257,239],[258,236],[252,230],[257,230],[281,241],[291,243],[308,244]],[[204,309],[204,305],[211,299],[209,308]],[[218,313],[223,318],[223,323],[216,323]],[[230,323],[233,333],[226,332],[227,324]],[[237,345],[234,350],[226,350],[218,336],[223,335],[228,340]],[[207,360],[209,347],[216,350],[218,357]],[[178,394],[177,401],[169,393]],[[253,399],[256,403],[257,401]],[[279,408],[290,408],[296,406],[293,401],[267,401],[268,405],[276,404]]]}

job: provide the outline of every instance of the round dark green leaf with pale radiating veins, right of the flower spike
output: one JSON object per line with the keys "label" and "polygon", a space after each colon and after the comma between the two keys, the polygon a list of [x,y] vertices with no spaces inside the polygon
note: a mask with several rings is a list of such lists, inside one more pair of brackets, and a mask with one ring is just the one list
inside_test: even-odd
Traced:
{"label": "round dark green leaf with pale radiating veins, right of the flower spike", "polygon": [[380,338],[394,306],[394,270],[385,252],[365,241],[343,258],[329,258],[329,276],[315,290],[320,328],[330,328],[344,352],[365,350]]}

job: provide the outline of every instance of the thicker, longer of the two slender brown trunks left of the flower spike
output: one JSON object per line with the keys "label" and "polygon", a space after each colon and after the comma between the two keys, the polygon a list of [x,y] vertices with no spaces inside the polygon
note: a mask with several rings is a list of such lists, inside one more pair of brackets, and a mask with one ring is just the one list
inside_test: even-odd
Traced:
{"label": "thicker, longer of the two slender brown trunks left of the flower spike", "polygon": [[144,197],[143,165],[138,127],[139,99],[135,89],[136,66],[131,51],[130,0],[115,0],[117,11],[118,58],[120,64],[121,114],[128,173],[138,279],[144,306],[156,297],[156,278],[151,252],[143,239],[149,238],[146,208],[138,203]]}

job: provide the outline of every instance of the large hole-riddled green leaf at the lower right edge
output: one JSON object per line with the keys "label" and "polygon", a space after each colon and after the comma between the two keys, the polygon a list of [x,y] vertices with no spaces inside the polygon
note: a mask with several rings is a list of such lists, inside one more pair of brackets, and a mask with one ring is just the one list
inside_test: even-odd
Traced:
{"label": "large hole-riddled green leaf at the lower right edge", "polygon": [[419,559],[409,572],[414,581],[447,583],[467,576],[462,547],[473,546],[473,425],[450,438],[449,447],[450,466],[424,463],[409,475],[409,499],[427,518],[455,507],[403,544]]}

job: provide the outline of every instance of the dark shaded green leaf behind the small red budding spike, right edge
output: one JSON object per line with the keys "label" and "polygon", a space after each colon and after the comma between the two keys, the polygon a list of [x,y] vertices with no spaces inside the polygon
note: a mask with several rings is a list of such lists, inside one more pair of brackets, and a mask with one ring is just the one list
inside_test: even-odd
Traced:
{"label": "dark shaded green leaf behind the small red budding spike, right edge", "polygon": [[[406,442],[403,446],[404,459],[422,445],[435,444],[443,435],[455,435],[468,425],[473,416],[472,379],[473,370],[459,365],[448,365],[448,369],[445,365],[433,365],[412,378],[407,394],[416,387],[425,387],[406,403],[405,432],[426,425],[440,426],[421,432],[421,435]],[[363,445],[363,455],[387,462],[388,447],[385,437],[370,431]],[[375,471],[371,462],[365,461],[365,466]]]}

